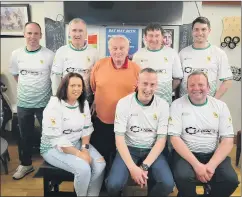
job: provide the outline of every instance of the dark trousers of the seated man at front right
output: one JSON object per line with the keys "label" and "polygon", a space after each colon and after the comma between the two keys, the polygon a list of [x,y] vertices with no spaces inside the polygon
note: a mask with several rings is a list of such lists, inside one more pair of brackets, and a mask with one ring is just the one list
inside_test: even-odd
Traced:
{"label": "dark trousers of the seated man at front right", "polygon": [[[202,154],[193,153],[195,157],[203,164],[213,156],[213,153]],[[172,170],[177,189],[182,197],[196,197],[196,185],[199,181],[196,174],[186,160],[184,160],[175,151],[172,154]],[[231,165],[230,157],[216,168],[215,173],[209,182],[211,186],[211,197],[229,197],[238,187],[239,181],[236,172]]]}

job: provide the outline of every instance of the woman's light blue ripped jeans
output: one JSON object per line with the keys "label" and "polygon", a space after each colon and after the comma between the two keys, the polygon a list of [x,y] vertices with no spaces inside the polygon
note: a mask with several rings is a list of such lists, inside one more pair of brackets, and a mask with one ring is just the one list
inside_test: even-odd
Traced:
{"label": "woman's light blue ripped jeans", "polygon": [[[74,144],[77,149],[81,148],[80,141]],[[74,174],[74,188],[77,196],[98,196],[106,163],[104,160],[101,161],[102,156],[92,145],[89,153],[92,158],[91,165],[75,155],[62,153],[56,148],[48,150],[42,157],[49,164]]]}

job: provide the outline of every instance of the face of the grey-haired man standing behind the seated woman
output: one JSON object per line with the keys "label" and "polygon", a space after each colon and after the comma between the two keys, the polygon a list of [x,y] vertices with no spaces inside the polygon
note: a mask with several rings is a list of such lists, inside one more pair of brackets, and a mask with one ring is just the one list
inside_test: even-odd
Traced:
{"label": "face of the grey-haired man standing behind the seated woman", "polygon": [[83,22],[72,22],[69,27],[71,43],[75,47],[84,46],[87,38],[87,27]]}

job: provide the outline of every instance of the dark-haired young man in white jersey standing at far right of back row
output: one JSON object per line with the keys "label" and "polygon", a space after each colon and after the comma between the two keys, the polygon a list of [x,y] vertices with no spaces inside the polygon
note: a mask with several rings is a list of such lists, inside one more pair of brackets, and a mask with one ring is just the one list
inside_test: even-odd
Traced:
{"label": "dark-haired young man in white jersey standing at far right of back row", "polygon": [[[209,95],[220,99],[232,85],[233,75],[226,53],[208,42],[211,32],[210,21],[206,17],[198,17],[192,22],[193,44],[179,53],[184,72],[180,96],[187,93],[187,77],[195,70],[208,75]],[[218,79],[222,84],[217,89]]]}

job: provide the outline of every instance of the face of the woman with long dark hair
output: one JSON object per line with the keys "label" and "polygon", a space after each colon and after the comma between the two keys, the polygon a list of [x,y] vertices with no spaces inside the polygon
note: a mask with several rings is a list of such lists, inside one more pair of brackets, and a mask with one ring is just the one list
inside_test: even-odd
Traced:
{"label": "face of the woman with long dark hair", "polygon": [[71,77],[67,88],[67,100],[74,102],[81,96],[83,90],[82,80],[79,77]]}

